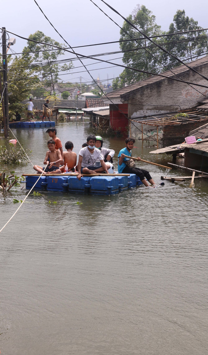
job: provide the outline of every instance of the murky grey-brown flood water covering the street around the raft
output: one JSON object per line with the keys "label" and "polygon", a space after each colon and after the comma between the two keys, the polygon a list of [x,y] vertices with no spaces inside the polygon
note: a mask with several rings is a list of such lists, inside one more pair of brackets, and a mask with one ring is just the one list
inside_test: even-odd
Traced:
{"label": "murky grey-brown flood water covering the street around the raft", "polygon": [[[13,129],[33,164],[43,163],[45,130]],[[70,122],[57,131],[78,153],[92,129]],[[116,166],[124,138],[104,146],[115,149]],[[171,162],[149,154],[146,142],[135,146],[134,156]],[[161,175],[190,175],[139,164],[157,184]],[[14,168],[33,173],[30,163]],[[28,196],[0,233],[1,354],[207,354],[208,181],[189,184],[165,181],[116,196]],[[27,193],[0,191],[0,229],[18,207],[13,198]]]}

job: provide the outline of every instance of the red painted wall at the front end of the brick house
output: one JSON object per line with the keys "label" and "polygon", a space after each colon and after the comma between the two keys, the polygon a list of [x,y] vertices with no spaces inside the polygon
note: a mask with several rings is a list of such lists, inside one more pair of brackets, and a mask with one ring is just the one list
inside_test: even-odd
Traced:
{"label": "red painted wall at the front end of the brick house", "polygon": [[128,104],[110,105],[110,126],[115,131],[128,131]]}

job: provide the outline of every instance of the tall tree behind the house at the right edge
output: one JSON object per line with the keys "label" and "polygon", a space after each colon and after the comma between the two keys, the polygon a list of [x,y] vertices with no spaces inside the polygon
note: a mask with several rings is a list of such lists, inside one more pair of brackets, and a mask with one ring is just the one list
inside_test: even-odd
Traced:
{"label": "tall tree behind the house at the right edge", "polygon": [[[201,29],[198,26],[198,22],[193,18],[185,16],[184,10],[177,10],[173,18],[174,23],[169,26],[167,34],[175,32],[186,32]],[[207,52],[208,40],[206,31],[189,32],[185,34],[174,34],[173,36],[167,36],[164,42],[165,48],[174,54],[177,58],[186,62],[195,60],[199,55]],[[163,54],[162,60],[169,68],[181,65],[175,58]]]}

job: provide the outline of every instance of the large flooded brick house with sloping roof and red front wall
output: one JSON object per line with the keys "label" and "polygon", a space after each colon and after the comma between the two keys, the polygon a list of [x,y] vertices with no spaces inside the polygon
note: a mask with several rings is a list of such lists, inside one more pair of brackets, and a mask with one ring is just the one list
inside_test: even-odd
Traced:
{"label": "large flooded brick house with sloping roof and red front wall", "polygon": [[208,122],[208,55],[186,65],[117,89],[104,99],[110,126],[157,146],[181,143],[188,133]]}

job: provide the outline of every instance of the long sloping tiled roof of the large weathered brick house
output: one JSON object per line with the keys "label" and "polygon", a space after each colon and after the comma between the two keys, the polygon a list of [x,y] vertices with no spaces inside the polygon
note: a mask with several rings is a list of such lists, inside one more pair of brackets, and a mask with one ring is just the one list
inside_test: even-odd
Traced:
{"label": "long sloping tiled roof of the large weathered brick house", "polygon": [[[194,60],[194,61],[188,63],[188,65],[191,68],[193,68],[193,67],[205,64],[207,62],[208,62],[208,55],[204,56],[203,58]],[[174,77],[175,74],[177,74],[177,75],[178,74],[182,74],[182,73],[184,73],[184,72],[186,72],[188,70],[190,70],[190,69],[188,69],[184,64],[182,64],[182,65],[180,65],[178,67],[175,67],[175,68],[171,69],[171,71],[167,70],[167,71],[162,72],[161,74],[171,78],[171,77]],[[131,92],[136,91],[139,88],[145,87],[145,86],[147,86],[149,84],[158,83],[158,82],[163,81],[163,80],[166,80],[166,79],[162,78],[160,76],[157,76],[157,75],[153,75],[153,76],[150,76],[147,79],[138,81],[138,82],[133,83],[131,85],[125,86],[125,87],[123,87],[121,89],[117,89],[117,90],[114,90],[114,91],[110,92],[108,94],[108,98],[109,99],[114,99],[114,98],[116,99],[118,97],[122,97],[122,95],[130,94]]]}

